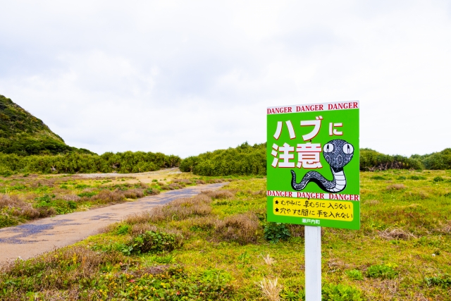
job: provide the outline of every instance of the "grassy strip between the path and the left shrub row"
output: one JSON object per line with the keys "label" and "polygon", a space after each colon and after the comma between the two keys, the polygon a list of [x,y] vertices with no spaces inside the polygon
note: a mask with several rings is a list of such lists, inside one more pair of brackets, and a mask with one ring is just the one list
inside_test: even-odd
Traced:
{"label": "grassy strip between the path and the left shrub row", "polygon": [[0,228],[215,181],[223,180],[164,171],[94,178],[28,174],[0,178]]}

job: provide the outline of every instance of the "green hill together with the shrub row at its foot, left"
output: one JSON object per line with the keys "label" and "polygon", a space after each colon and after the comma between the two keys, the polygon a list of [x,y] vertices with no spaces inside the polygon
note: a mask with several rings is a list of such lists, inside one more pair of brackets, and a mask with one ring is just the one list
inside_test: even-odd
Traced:
{"label": "green hill together with the shrub row at its foot, left", "polygon": [[64,143],[40,119],[0,95],[0,174],[138,173],[178,166],[179,156],[106,152],[101,156]]}

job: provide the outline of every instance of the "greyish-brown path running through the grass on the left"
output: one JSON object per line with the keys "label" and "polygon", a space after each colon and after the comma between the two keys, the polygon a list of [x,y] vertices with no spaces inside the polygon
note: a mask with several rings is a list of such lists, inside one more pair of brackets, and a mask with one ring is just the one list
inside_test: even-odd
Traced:
{"label": "greyish-brown path running through the grass on the left", "polygon": [[143,197],[135,202],[125,202],[108,207],[58,215],[20,226],[0,229],[0,263],[18,257],[28,259],[49,252],[55,247],[71,245],[94,235],[101,228],[121,221],[125,216],[149,210],[171,202],[178,197],[192,197],[202,190],[215,190],[227,183],[193,186]]}

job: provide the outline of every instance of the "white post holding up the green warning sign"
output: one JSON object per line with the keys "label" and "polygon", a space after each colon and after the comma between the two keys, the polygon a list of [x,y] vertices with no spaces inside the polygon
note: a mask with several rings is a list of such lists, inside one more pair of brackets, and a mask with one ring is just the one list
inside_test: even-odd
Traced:
{"label": "white post holding up the green warning sign", "polygon": [[321,227],[305,226],[305,301],[321,301]]}

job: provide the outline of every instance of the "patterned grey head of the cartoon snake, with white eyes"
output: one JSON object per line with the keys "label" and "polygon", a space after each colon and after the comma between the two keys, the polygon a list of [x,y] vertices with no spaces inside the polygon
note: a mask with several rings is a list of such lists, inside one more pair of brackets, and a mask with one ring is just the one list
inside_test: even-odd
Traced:
{"label": "patterned grey head of the cartoon snake, with white eyes", "polygon": [[323,156],[330,167],[341,169],[350,163],[354,156],[354,147],[345,140],[330,140],[323,147]]}

